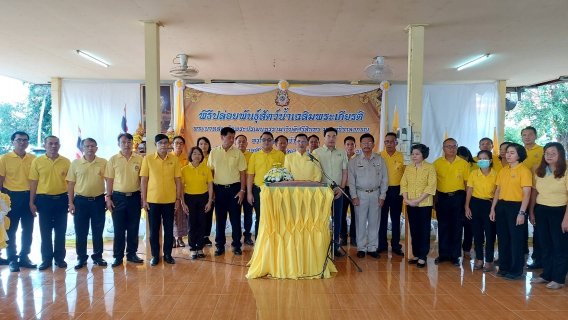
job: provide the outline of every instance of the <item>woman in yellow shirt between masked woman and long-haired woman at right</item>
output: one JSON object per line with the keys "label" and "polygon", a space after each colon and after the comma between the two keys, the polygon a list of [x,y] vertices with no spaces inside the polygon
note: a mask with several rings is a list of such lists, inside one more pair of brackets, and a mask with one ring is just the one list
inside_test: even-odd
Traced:
{"label": "woman in yellow shirt between masked woman and long-haired woman at right", "polygon": [[531,195],[532,173],[521,164],[527,158],[527,150],[520,144],[509,144],[505,157],[509,165],[497,175],[489,217],[496,222],[499,238],[497,276],[517,280],[522,278],[525,265],[525,211]]}

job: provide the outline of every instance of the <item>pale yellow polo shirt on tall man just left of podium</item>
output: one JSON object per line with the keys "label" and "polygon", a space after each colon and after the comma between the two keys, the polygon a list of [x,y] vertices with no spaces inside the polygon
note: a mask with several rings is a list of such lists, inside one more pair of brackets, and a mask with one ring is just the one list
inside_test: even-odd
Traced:
{"label": "pale yellow polo shirt on tall man just left of podium", "polygon": [[241,182],[241,171],[247,169],[245,156],[235,146],[227,151],[222,146],[213,148],[207,165],[215,171],[213,182],[224,185]]}

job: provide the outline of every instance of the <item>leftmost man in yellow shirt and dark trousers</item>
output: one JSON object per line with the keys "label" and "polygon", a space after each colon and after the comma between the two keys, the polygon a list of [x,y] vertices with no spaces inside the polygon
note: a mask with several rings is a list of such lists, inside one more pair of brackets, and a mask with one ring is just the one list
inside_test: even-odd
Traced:
{"label": "leftmost man in yellow shirt and dark trousers", "polygon": [[[27,133],[17,131],[11,137],[14,150],[0,157],[0,190],[10,196],[12,203],[8,218],[8,261],[10,271],[18,272],[20,267],[37,268],[28,258],[32,247],[35,212],[30,211],[30,166],[35,159],[33,154],[26,153],[30,137]],[[21,244],[18,261],[16,232],[22,224]],[[4,260],[4,259],[2,259]]]}

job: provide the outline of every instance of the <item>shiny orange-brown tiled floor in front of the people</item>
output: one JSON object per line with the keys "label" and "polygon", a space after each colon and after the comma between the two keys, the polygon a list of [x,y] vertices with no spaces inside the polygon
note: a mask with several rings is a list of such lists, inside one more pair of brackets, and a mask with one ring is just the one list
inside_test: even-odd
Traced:
{"label": "shiny orange-brown tiled floor in front of the people", "polygon": [[[228,241],[230,243],[230,241]],[[435,247],[433,245],[433,247]],[[140,251],[144,250],[141,243]],[[112,261],[112,243],[104,258]],[[380,260],[345,257],[339,272],[325,280],[247,280],[242,256],[190,261],[187,249],[174,249],[173,266],[93,266],[75,271],[68,248],[66,270],[0,268],[0,319],[566,319],[568,289],[531,285],[532,272],[508,282],[494,274],[435,265],[425,269],[399,256]],[[210,250],[208,248],[207,250]],[[206,251],[207,253],[208,251]],[[39,262],[39,256],[31,257]]]}

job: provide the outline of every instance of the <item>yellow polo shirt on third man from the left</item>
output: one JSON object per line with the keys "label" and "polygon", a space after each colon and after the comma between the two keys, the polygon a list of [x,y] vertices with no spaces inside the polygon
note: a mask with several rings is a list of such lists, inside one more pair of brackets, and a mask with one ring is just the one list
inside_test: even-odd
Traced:
{"label": "yellow polo shirt on third man from the left", "polygon": [[75,194],[83,197],[96,197],[105,193],[104,172],[106,159],[95,156],[93,162],[85,157],[71,162],[65,180],[75,182]]}

